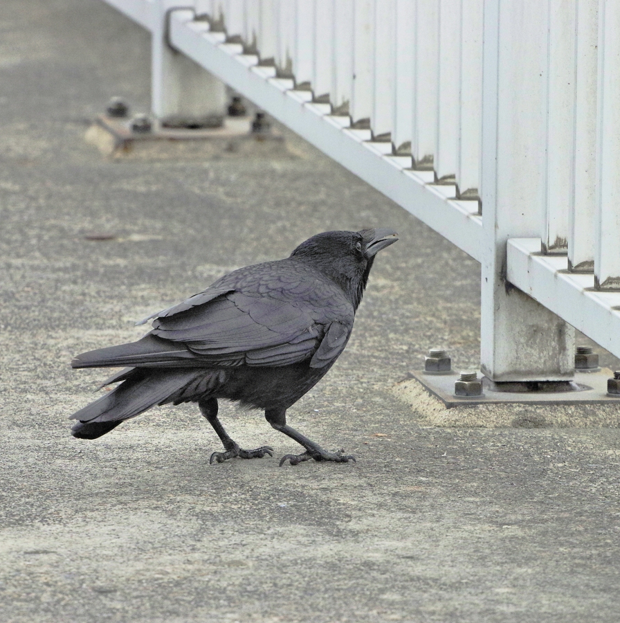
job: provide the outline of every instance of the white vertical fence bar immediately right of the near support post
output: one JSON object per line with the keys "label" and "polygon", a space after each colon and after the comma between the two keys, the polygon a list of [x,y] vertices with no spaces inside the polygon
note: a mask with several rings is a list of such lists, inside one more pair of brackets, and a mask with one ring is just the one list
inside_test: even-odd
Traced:
{"label": "white vertical fence bar immediately right of the near support post", "polygon": [[576,0],[549,2],[547,100],[547,215],[544,253],[566,253],[573,194]]}

